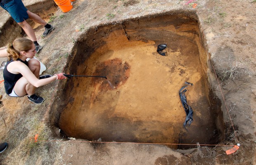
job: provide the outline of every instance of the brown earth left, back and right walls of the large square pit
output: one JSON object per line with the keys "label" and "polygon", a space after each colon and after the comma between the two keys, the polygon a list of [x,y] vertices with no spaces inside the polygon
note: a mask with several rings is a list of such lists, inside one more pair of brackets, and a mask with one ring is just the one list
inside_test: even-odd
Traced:
{"label": "brown earth left, back and right walls of the large square pit", "polygon": [[[163,24],[168,25],[168,29],[171,30],[168,32],[165,31],[164,33],[161,30],[157,30],[159,27],[164,29],[165,26],[162,26]],[[181,13],[180,11],[155,16],[145,16],[144,18],[134,18],[125,20],[122,23],[116,23],[115,25],[99,25],[97,27],[92,27],[78,39],[73,48],[73,52],[68,58],[64,71],[73,75],[83,75],[85,70],[78,69],[80,68],[79,66],[84,64],[85,60],[90,57],[95,49],[105,44],[103,38],[107,37],[115,30],[124,30],[129,40],[142,40],[145,42],[152,40],[155,41],[156,45],[164,44],[160,43],[160,40],[162,41],[163,39],[159,39],[159,36],[172,37],[173,41],[175,41],[175,39],[179,38],[179,35],[182,35],[185,39],[195,43],[196,49],[198,47],[201,69],[205,74],[203,77],[213,77],[214,73],[209,69],[210,59],[209,54],[205,50],[205,40],[199,29],[200,24],[198,22],[196,13],[187,15],[183,12]],[[178,48],[178,45],[173,45],[170,47],[174,50],[175,48]],[[79,54],[79,56],[76,56],[76,54]],[[211,83],[209,82],[209,79],[205,79],[204,81],[206,84],[206,95],[208,96],[210,105],[212,105],[211,113],[216,119],[215,123],[218,128],[216,131],[216,134],[218,134],[218,140],[216,141],[220,142],[224,139],[225,135],[225,125],[223,121],[223,112],[221,111],[221,102],[211,90]],[[70,91],[74,88],[71,81],[60,83],[59,89],[65,89],[65,92],[60,90],[60,99],[56,99],[52,104],[50,123],[54,126],[57,126],[60,113],[66,106],[66,103],[69,102],[69,99],[66,98],[65,93],[70,93]]]}

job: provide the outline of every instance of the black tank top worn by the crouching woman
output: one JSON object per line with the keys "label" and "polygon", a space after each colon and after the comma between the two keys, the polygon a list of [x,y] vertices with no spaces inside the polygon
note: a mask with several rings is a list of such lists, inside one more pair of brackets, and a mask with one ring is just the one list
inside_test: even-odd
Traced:
{"label": "black tank top worn by the crouching woman", "polygon": [[[26,64],[26,66],[28,66],[28,62],[27,61],[22,61],[21,59],[17,59],[17,61],[23,62],[24,64]],[[22,74],[13,74],[10,73],[9,71],[7,71],[7,66],[9,63],[14,62],[14,60],[10,60],[7,62],[7,64],[5,65],[5,69],[3,71],[3,77],[4,77],[4,84],[5,84],[5,92],[7,94],[12,93],[12,89],[14,87],[14,85],[16,84],[16,82],[22,77]]]}

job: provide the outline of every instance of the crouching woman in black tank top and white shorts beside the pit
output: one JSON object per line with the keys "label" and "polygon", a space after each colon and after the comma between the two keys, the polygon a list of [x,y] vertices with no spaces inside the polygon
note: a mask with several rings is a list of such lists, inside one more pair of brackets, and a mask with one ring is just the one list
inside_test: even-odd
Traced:
{"label": "crouching woman in black tank top and white shorts beside the pit", "polygon": [[[49,84],[54,80],[66,78],[59,73],[54,76],[39,77],[40,62],[33,59],[36,53],[33,41],[25,38],[17,38],[7,46],[9,61],[3,71],[5,92],[12,97],[28,95],[28,100],[36,104],[43,103],[44,99],[35,94],[37,87]],[[27,58],[30,58],[28,62]]]}

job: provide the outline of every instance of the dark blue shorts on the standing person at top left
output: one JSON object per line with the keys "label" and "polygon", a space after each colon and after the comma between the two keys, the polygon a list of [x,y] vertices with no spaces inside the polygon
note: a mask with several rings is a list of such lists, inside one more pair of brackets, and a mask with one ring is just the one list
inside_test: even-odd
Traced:
{"label": "dark blue shorts on the standing person at top left", "polygon": [[28,19],[28,9],[26,9],[21,0],[12,0],[5,5],[1,5],[1,7],[8,11],[8,13],[17,23]]}

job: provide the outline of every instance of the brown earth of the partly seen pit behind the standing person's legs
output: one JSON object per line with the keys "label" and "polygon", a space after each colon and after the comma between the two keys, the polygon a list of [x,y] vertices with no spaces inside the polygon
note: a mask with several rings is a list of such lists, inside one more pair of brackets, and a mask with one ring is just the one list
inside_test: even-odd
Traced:
{"label": "brown earth of the partly seen pit behind the standing person's legs", "polygon": [[[33,5],[26,6],[26,8],[32,13],[37,14],[46,22],[49,21],[49,17],[57,11],[58,7],[53,0],[46,0],[44,2],[38,2]],[[9,15],[10,16],[10,15]],[[37,28],[40,24],[33,22],[31,19],[26,20],[33,29]],[[14,21],[10,16],[2,27],[0,27],[0,47],[7,46],[9,42],[14,41],[17,37],[23,37],[24,30]]]}

